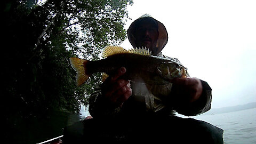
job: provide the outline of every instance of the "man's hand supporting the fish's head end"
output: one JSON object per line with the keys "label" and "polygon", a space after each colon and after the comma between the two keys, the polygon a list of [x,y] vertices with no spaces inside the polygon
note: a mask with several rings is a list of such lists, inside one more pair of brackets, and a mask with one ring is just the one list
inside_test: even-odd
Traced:
{"label": "man's hand supporting the fish's head end", "polygon": [[202,94],[203,86],[200,79],[196,77],[174,78],[170,81],[173,83],[173,93],[181,103],[194,102]]}

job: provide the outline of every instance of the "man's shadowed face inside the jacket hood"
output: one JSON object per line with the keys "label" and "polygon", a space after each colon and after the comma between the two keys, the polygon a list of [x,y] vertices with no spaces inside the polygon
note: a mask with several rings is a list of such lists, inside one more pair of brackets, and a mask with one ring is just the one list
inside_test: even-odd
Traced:
{"label": "man's shadowed face inside the jacket hood", "polygon": [[139,23],[134,35],[136,47],[147,47],[147,49],[156,53],[158,34],[158,29],[153,22],[143,21]]}

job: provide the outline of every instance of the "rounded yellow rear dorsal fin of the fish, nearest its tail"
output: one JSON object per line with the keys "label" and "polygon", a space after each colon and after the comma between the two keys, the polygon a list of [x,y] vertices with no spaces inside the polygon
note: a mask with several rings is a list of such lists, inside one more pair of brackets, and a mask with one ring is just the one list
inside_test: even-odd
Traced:
{"label": "rounded yellow rear dorsal fin of the fish, nearest its tail", "polygon": [[110,55],[118,54],[118,53],[129,53],[121,46],[106,46],[102,51],[102,57],[107,58]]}

